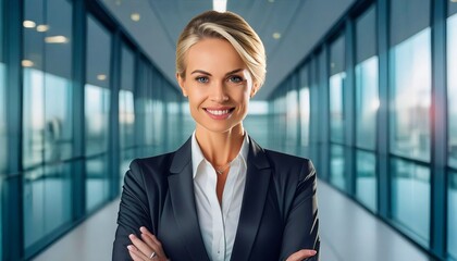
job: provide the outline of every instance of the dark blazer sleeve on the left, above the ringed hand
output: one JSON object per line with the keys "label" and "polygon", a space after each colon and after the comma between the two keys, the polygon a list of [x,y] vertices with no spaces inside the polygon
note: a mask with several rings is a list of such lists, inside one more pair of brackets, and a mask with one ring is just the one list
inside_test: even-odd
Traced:
{"label": "dark blazer sleeve on the left, above the ringed hand", "polygon": [[151,219],[141,169],[138,160],[134,160],[124,177],[118,213],[118,229],[113,244],[113,261],[132,260],[127,249],[127,246],[132,245],[128,235],[136,234],[139,236],[140,226],[150,229]]}

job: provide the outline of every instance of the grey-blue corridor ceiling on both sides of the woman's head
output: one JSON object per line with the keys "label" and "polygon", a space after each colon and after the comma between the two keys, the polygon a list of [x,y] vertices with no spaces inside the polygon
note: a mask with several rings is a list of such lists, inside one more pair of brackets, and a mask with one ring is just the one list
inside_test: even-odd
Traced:
{"label": "grey-blue corridor ceiling on both sides of the woman's head", "polygon": [[[175,44],[211,0],[98,0],[135,39],[158,69],[175,83]],[[267,51],[267,80],[256,96],[265,100],[322,39],[355,0],[228,0],[259,34]],[[132,14],[139,14],[134,21]],[[176,85],[177,88],[177,85]]]}

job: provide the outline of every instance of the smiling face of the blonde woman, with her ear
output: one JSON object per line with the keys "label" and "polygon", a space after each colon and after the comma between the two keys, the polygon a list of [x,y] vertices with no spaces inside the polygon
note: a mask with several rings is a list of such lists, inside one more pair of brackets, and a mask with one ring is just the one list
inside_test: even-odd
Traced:
{"label": "smiling face of the blonde woman, with her ear", "polygon": [[185,72],[177,82],[188,97],[197,129],[224,133],[242,127],[255,87],[247,66],[228,41],[207,38],[195,44],[186,53]]}

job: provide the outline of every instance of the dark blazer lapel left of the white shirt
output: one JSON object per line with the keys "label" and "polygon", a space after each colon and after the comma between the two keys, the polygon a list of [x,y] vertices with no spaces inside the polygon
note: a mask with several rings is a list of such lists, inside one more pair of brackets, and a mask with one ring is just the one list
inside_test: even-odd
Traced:
{"label": "dark blazer lapel left of the white shirt", "polygon": [[184,236],[189,258],[209,261],[198,223],[192,170],[192,139],[174,154],[169,175],[169,186],[174,216]]}

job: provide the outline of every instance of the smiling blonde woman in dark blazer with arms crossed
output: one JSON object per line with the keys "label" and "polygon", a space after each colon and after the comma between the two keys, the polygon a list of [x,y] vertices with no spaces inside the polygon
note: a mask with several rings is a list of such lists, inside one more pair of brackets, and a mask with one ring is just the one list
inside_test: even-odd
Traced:
{"label": "smiling blonde woman in dark blazer with arms crossed", "polygon": [[318,260],[311,162],[263,150],[243,128],[264,75],[263,45],[240,16],[189,22],[176,78],[196,129],[177,151],[132,162],[113,260]]}

